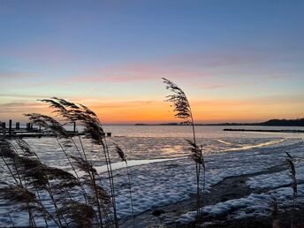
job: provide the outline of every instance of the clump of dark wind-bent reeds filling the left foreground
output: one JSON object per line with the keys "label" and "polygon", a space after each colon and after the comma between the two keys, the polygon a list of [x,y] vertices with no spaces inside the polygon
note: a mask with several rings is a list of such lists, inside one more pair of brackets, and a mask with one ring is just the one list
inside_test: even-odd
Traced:
{"label": "clump of dark wind-bent reeds filling the left foreground", "polygon": [[[73,174],[42,163],[27,141],[16,139],[12,143],[0,139],[4,170],[11,177],[7,183],[2,183],[0,197],[13,203],[18,202],[20,209],[27,211],[28,225],[31,227],[36,226],[37,219],[44,220],[46,227],[49,224],[57,227],[118,227],[110,150],[100,120],[94,111],[81,104],[57,97],[41,101],[48,103],[60,119],[39,113],[25,116],[32,124],[56,134],[56,141]],[[87,159],[81,137],[78,136],[79,146],[60,123],[62,120],[84,125],[85,137],[101,148],[108,168],[106,179],[109,180],[110,193],[103,188],[102,178]],[[70,155],[66,148],[73,149],[76,154]],[[79,171],[85,174],[80,176]],[[51,202],[52,207],[46,208],[44,201]],[[9,217],[11,219],[11,215]]]}

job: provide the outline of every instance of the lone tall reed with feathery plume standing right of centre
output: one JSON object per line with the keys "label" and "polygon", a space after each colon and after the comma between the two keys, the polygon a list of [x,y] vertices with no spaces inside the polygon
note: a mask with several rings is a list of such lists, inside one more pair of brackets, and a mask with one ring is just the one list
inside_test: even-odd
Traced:
{"label": "lone tall reed with feathery plume standing right of centre", "polygon": [[[195,162],[195,171],[196,171],[196,195],[197,195],[197,203],[196,203],[196,212],[197,218],[199,222],[201,222],[201,190],[200,190],[200,176],[201,176],[201,167],[204,172],[203,186],[205,186],[205,162],[202,155],[202,149],[196,143],[196,135],[195,135],[195,126],[194,126],[194,116],[191,110],[190,103],[186,97],[185,92],[174,82],[171,80],[167,80],[163,78],[163,83],[166,85],[166,89],[171,91],[171,95],[167,95],[167,99],[165,102],[172,103],[173,110],[175,112],[174,117],[180,118],[184,120],[184,124],[192,126],[193,132],[193,141],[187,141],[190,145],[191,156]],[[204,187],[203,187],[203,195],[204,196]]]}

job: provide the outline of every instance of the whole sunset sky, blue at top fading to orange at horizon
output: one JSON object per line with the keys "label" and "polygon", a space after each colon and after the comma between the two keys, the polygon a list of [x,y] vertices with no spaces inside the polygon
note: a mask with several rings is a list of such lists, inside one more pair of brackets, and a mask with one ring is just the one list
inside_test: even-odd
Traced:
{"label": "whole sunset sky, blue at top fading to orange at horizon", "polygon": [[0,121],[57,96],[104,124],[304,118],[304,1],[0,0]]}

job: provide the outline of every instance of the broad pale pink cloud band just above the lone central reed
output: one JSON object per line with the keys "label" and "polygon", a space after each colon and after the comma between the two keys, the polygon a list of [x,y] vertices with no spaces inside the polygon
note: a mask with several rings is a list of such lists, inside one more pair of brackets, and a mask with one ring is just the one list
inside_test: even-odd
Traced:
{"label": "broad pale pink cloud band just above the lone central reed", "polygon": [[[261,77],[265,78],[267,72],[270,72],[270,77],[273,74],[277,74],[277,72],[271,72],[270,69],[252,72],[252,67],[248,67],[248,65],[263,65],[265,62],[275,61],[277,57],[272,54],[266,51],[256,52],[254,50],[241,49],[232,53],[186,53],[152,59],[149,62],[112,65],[102,69],[88,69],[88,77],[83,80],[114,83],[155,80],[161,77],[172,80],[201,80],[212,77],[225,77],[227,74],[225,72],[233,73],[234,71],[236,75],[258,75],[263,72]],[[246,66],[246,68],[244,69],[243,66]],[[81,78],[83,77],[75,77],[75,80],[81,81]],[[224,87],[214,84],[210,83],[206,87]]]}

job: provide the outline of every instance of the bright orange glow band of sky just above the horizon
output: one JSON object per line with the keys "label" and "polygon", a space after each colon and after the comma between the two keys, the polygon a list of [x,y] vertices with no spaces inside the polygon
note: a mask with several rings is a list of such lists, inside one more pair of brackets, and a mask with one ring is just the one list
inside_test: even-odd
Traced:
{"label": "bright orange glow band of sky just above the horizon", "polygon": [[[198,124],[210,123],[251,123],[262,122],[270,118],[302,118],[304,112],[299,111],[303,106],[301,101],[282,101],[276,99],[265,102],[260,99],[221,99],[221,100],[191,100],[194,112],[194,121]],[[72,102],[76,102],[71,100]],[[263,101],[263,102],[262,102]],[[302,100],[304,101],[304,100]],[[103,124],[162,124],[182,122],[174,118],[171,103],[159,100],[132,100],[132,101],[96,101],[94,99],[77,100],[76,103],[85,104],[94,110]],[[7,103],[5,110],[0,110],[0,120],[27,122],[24,113],[38,112],[46,115],[52,114],[52,110],[41,103]],[[279,113],[279,114],[278,114]],[[282,114],[284,113],[284,114]]]}

